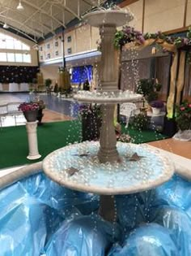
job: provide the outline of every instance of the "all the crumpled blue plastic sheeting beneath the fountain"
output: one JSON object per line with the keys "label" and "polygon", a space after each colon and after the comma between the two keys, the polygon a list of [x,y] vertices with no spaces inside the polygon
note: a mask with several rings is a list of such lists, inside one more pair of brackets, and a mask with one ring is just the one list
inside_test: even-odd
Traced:
{"label": "all the crumpled blue plastic sheeting beneath the fountain", "polygon": [[117,223],[97,215],[99,197],[43,173],[0,191],[1,256],[190,256],[191,183],[117,196]]}

